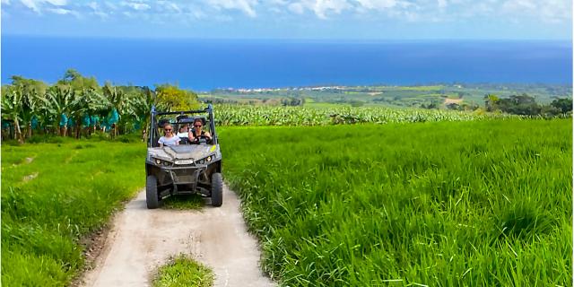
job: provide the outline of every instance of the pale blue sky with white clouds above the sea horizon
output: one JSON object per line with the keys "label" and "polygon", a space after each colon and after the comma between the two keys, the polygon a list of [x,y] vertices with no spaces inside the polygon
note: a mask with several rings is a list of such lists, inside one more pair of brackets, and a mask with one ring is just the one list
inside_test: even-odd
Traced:
{"label": "pale blue sky with white clouds above the sea horizon", "polygon": [[571,0],[1,0],[3,35],[572,39]]}

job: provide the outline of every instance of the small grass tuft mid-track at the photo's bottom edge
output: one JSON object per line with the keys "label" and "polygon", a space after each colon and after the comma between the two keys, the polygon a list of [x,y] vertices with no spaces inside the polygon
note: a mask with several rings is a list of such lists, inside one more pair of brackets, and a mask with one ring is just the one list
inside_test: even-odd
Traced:
{"label": "small grass tuft mid-track at the photo's bottom edge", "polygon": [[153,287],[209,287],[213,286],[213,272],[195,260],[179,255],[168,265],[161,266],[152,283]]}

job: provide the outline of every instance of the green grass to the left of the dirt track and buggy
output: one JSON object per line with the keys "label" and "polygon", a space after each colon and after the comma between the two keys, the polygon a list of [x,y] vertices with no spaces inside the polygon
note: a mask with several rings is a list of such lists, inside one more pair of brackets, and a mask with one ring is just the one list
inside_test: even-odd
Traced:
{"label": "green grass to the left of the dirt track and buggy", "polygon": [[2,146],[2,285],[64,286],[79,240],[144,186],[142,143]]}

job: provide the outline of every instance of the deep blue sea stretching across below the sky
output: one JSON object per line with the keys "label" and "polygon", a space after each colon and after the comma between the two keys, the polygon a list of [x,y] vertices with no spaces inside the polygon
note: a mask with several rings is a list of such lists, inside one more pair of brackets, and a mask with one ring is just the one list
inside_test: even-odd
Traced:
{"label": "deep blue sea stretching across below the sky", "polygon": [[566,41],[74,39],[2,36],[2,83],[54,83],[74,68],[100,83],[215,88],[324,84],[572,83]]}

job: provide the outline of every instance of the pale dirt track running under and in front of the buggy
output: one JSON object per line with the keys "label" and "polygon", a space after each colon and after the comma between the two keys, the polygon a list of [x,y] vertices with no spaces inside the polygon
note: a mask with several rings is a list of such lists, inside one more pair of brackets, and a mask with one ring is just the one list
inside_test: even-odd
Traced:
{"label": "pale dirt track running under and in front of the buggy", "polygon": [[250,236],[239,199],[223,188],[223,205],[201,211],[148,210],[141,192],[118,213],[83,286],[149,286],[170,256],[189,254],[210,266],[215,286],[274,286],[258,266],[257,240]]}

